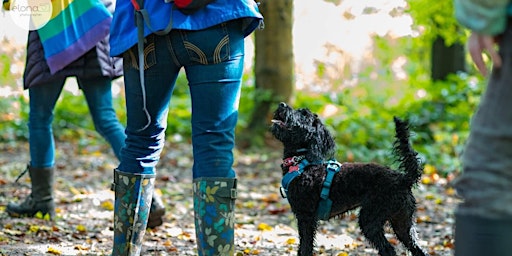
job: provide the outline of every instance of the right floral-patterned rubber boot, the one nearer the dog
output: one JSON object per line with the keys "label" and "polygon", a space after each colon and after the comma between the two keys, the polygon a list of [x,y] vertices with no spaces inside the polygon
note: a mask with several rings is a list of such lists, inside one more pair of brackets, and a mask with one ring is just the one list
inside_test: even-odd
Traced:
{"label": "right floral-patterned rubber boot, the one nearer the dog", "polygon": [[233,255],[236,179],[197,178],[193,191],[197,254]]}

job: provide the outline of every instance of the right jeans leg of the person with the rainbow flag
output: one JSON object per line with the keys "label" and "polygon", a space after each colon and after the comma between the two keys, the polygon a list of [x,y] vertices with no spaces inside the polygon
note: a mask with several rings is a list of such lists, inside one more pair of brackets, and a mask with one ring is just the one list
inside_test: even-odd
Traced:
{"label": "right jeans leg of the person with the rainbow flag", "polygon": [[112,80],[109,77],[78,78],[96,131],[105,138],[117,158],[126,138],[112,103]]}

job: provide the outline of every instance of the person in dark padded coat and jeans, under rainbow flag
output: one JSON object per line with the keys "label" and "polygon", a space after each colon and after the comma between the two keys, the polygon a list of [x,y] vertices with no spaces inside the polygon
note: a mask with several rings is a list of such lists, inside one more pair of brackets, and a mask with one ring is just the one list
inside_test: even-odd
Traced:
{"label": "person in dark padded coat and jeans, under rainbow flag", "polygon": [[[52,1],[54,5],[59,3],[60,1]],[[98,3],[101,4],[101,2]],[[96,27],[95,29],[100,30],[94,31],[103,33],[103,36],[97,41],[91,42],[91,48],[82,47],[80,51],[83,51],[83,54],[74,50],[72,53],[66,53],[67,59],[57,59],[54,63],[57,63],[57,66],[63,66],[62,68],[55,70],[48,64],[45,51],[53,49],[45,48],[42,43],[41,35],[44,37],[45,34],[41,31],[30,31],[28,34],[23,84],[24,88],[29,91],[30,163],[26,172],[31,178],[32,191],[22,202],[10,202],[7,205],[6,212],[10,216],[31,217],[38,212],[44,215],[48,214],[50,218],[55,216],[53,197],[55,144],[52,121],[56,102],[68,77],[76,77],[87,101],[96,131],[107,140],[116,157],[120,158],[126,135],[125,128],[119,122],[112,104],[111,85],[113,79],[122,76],[122,59],[110,57],[108,29],[112,8],[110,12],[107,10],[113,5],[109,1],[104,1],[103,4],[105,6],[101,7],[106,7],[105,12],[108,18],[105,21],[108,24],[102,28]],[[71,6],[68,7],[71,8]],[[69,11],[73,12],[73,10]],[[83,41],[87,41],[87,39],[80,38]],[[83,45],[80,41],[76,43]],[[68,57],[72,54],[75,54],[76,57],[69,59]],[[62,64],[62,62],[59,63],[60,60],[71,62]],[[162,216],[165,213],[161,199],[157,196],[153,197],[149,227],[161,225]]]}

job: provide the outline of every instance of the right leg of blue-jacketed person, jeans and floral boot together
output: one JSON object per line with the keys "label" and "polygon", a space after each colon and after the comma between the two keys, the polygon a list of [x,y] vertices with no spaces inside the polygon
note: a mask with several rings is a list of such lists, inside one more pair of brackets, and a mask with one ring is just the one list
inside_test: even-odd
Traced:
{"label": "right leg of blue-jacketed person, jeans and floral boot together", "polygon": [[244,62],[241,22],[184,33],[184,40],[196,46],[186,47],[193,57],[185,68],[192,98],[198,254],[232,255],[237,182],[233,148]]}

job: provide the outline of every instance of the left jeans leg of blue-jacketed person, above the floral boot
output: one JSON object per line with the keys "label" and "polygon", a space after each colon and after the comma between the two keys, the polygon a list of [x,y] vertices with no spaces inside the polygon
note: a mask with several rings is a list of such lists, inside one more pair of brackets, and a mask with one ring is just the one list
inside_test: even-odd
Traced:
{"label": "left jeans leg of blue-jacketed person, above the floral boot", "polygon": [[166,37],[146,37],[145,87],[141,88],[137,48],[124,57],[126,93],[126,145],[121,150],[119,170],[154,173],[164,146],[169,101],[180,67]]}

